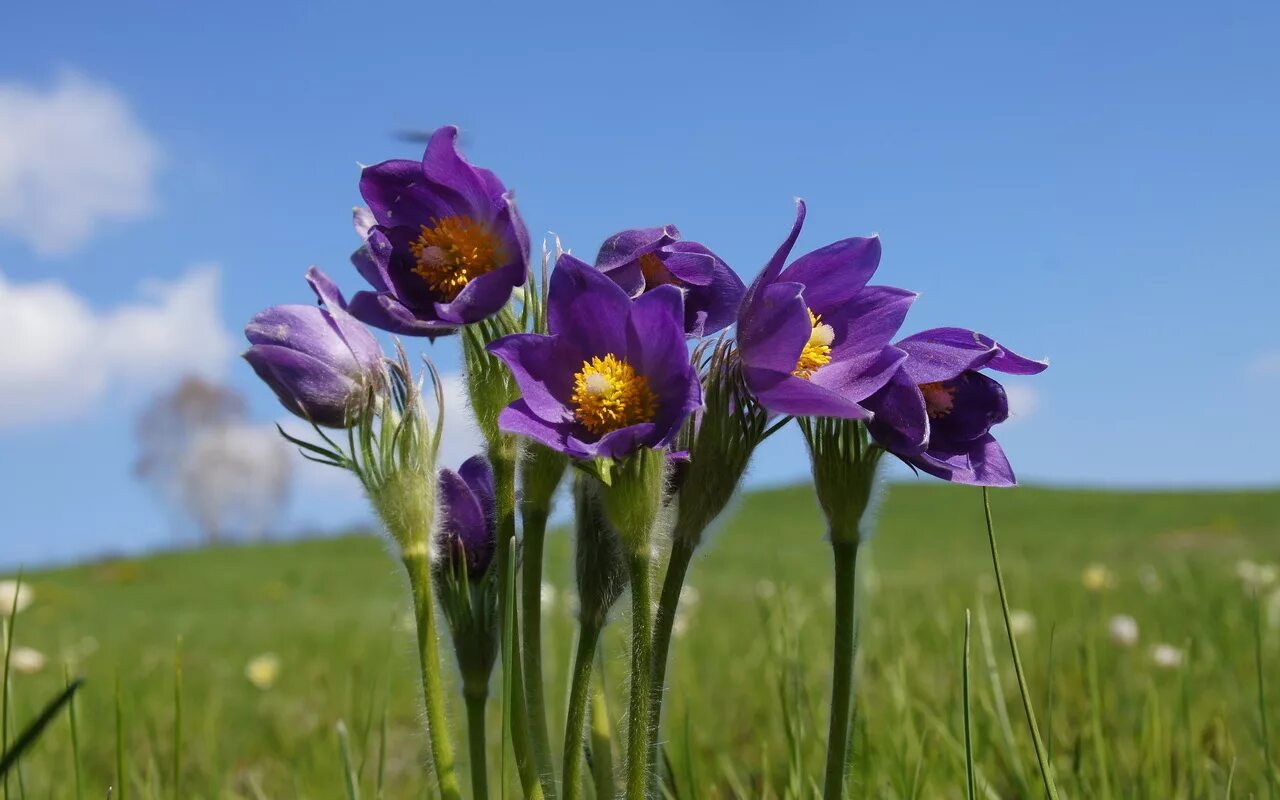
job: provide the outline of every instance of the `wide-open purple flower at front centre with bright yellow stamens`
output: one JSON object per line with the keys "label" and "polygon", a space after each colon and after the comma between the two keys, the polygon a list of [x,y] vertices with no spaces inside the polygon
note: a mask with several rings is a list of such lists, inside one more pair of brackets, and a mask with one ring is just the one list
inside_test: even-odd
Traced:
{"label": "wide-open purple flower at front centre with bright yellow stamens", "polygon": [[499,426],[573,458],[622,458],[666,447],[701,404],[672,285],[636,300],[604,273],[562,255],[548,287],[549,335],[489,346],[520,385]]}

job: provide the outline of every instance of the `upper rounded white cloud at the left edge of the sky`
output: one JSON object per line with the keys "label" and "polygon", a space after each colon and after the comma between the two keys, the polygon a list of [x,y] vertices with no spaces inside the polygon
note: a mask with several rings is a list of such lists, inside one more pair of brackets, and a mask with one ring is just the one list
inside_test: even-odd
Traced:
{"label": "upper rounded white cloud at the left edge of the sky", "polygon": [[74,252],[100,224],[150,212],[160,161],[109,86],[74,72],[45,91],[0,83],[0,233],[38,253]]}

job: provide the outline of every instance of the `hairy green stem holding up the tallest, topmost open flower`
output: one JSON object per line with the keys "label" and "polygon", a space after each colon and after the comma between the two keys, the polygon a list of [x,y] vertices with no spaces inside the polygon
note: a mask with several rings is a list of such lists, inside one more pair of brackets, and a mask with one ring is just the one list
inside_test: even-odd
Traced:
{"label": "hairy green stem holding up the tallest, topmost open flower", "polygon": [[[494,495],[498,511],[498,608],[506,608],[507,595],[513,586],[515,558],[509,541],[516,538],[516,460],[515,436],[499,434],[489,447],[489,463],[493,465]],[[516,628],[520,627],[518,609],[511,598],[511,613]],[[503,637],[507,658],[511,663],[511,749],[516,755],[516,771],[520,773],[520,786],[529,800],[543,800],[545,783],[550,776],[539,776],[529,745],[529,717],[525,705],[525,677],[520,658],[520,640],[512,637],[508,644]]]}

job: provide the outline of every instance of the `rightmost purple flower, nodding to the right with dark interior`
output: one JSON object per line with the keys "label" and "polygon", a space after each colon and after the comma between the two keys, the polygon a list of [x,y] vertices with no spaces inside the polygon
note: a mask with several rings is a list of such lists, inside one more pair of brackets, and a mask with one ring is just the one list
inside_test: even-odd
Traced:
{"label": "rightmost purple flower, nodding to the right with dark interior", "polygon": [[1009,419],[1005,388],[979,370],[1036,375],[1047,361],[1019,356],[964,328],[934,328],[897,343],[908,358],[863,404],[884,449],[929,475],[960,484],[1011,486],[1014,470],[991,429]]}

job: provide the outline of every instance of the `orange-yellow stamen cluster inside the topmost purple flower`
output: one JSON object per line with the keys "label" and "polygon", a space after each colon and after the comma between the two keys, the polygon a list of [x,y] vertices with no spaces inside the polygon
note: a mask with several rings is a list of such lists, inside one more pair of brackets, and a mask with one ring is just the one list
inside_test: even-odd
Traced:
{"label": "orange-yellow stamen cluster inside the topmost purple flower", "polygon": [[413,271],[445,302],[499,266],[498,239],[470,216],[433,219],[408,247],[417,260]]}

